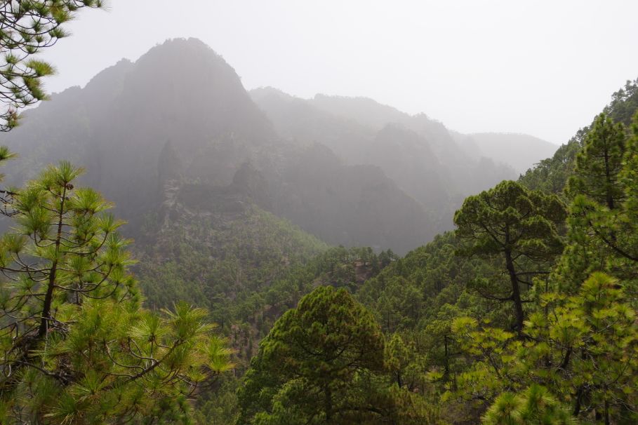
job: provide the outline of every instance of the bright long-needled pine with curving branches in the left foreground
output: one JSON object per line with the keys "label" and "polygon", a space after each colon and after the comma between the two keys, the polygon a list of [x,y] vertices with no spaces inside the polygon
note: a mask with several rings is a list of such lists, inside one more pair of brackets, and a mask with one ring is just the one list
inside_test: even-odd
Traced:
{"label": "bright long-needled pine with curving branches in the left foreground", "polygon": [[11,191],[0,239],[0,421],[183,421],[187,397],[228,370],[206,311],[152,313],[121,222],[62,162]]}

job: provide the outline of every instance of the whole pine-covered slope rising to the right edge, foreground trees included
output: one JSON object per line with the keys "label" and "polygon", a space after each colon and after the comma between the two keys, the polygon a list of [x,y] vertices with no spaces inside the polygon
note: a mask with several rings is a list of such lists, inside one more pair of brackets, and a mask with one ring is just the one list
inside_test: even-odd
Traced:
{"label": "whole pine-covered slope rising to the right edge, foreground trees included", "polygon": [[[299,423],[328,417],[335,423],[632,423],[638,329],[631,298],[634,231],[627,219],[638,127],[625,131],[618,111],[634,93],[620,102],[616,93],[604,115],[519,182],[467,198],[455,215],[458,230],[393,259],[364,281],[354,274],[345,285],[321,281],[347,288],[371,316],[341,318],[339,308],[353,309],[345,299],[331,301],[343,307],[327,315],[306,310],[333,297],[313,291],[260,344],[228,417],[239,424],[281,423],[291,415]],[[595,174],[604,170],[601,151],[609,154],[613,187]],[[535,185],[535,173],[554,180]],[[620,203],[609,208],[609,196]],[[515,238],[507,241],[503,229]],[[342,257],[343,267],[352,258]],[[279,288],[274,285],[270,297]],[[296,299],[311,290],[306,286]],[[303,320],[297,311],[307,311],[307,324],[295,324]],[[355,375],[313,375],[314,368],[337,367],[343,353],[361,347],[303,342],[294,336],[299,326],[325,326],[317,329],[326,338],[345,342],[351,339],[338,332],[354,330],[332,326],[358,321],[361,338],[385,335],[383,353],[365,349],[366,356],[383,357],[385,367],[360,363]],[[369,321],[378,328],[369,328]],[[307,344],[316,355],[304,353]],[[331,357],[333,349],[342,354]],[[335,393],[326,393],[325,385]]]}

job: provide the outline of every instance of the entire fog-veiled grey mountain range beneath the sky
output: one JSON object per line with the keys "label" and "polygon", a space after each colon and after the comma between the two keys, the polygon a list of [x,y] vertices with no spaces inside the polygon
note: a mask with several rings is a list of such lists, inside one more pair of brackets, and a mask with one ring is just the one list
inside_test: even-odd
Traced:
{"label": "entire fog-veiled grey mountain range beneath the sky", "polygon": [[450,229],[465,196],[553,153],[535,137],[460,135],[366,98],[248,93],[197,39],[121,60],[26,114],[4,137],[20,155],[12,183],[68,158],[132,236],[172,220],[167,199],[190,198],[176,192],[201,189],[237,194],[215,199],[254,203],[327,243],[406,252]]}

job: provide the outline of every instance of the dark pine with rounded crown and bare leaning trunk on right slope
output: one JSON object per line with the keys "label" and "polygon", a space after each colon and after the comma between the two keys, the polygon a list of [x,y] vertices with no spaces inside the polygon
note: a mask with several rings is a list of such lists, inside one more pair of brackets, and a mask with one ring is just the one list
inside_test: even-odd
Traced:
{"label": "dark pine with rounded crown and bare leaning trunk on right slope", "polygon": [[477,290],[483,297],[512,302],[514,329],[519,332],[526,301],[521,285],[531,285],[531,278],[550,273],[563,249],[557,229],[565,218],[565,206],[557,196],[529,191],[517,182],[501,182],[466,198],[454,215],[456,234],[465,242],[459,252],[495,260],[507,276],[500,285],[498,277],[492,276],[480,285],[486,288]]}

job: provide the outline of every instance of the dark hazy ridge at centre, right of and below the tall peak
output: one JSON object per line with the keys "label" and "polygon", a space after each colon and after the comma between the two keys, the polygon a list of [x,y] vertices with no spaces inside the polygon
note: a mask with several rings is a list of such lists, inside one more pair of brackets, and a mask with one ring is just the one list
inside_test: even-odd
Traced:
{"label": "dark hazy ridge at centre, right of and below the tall peak", "polygon": [[380,168],[343,166],[321,144],[291,155],[282,177],[273,210],[328,243],[407,252],[434,236],[423,205]]}

